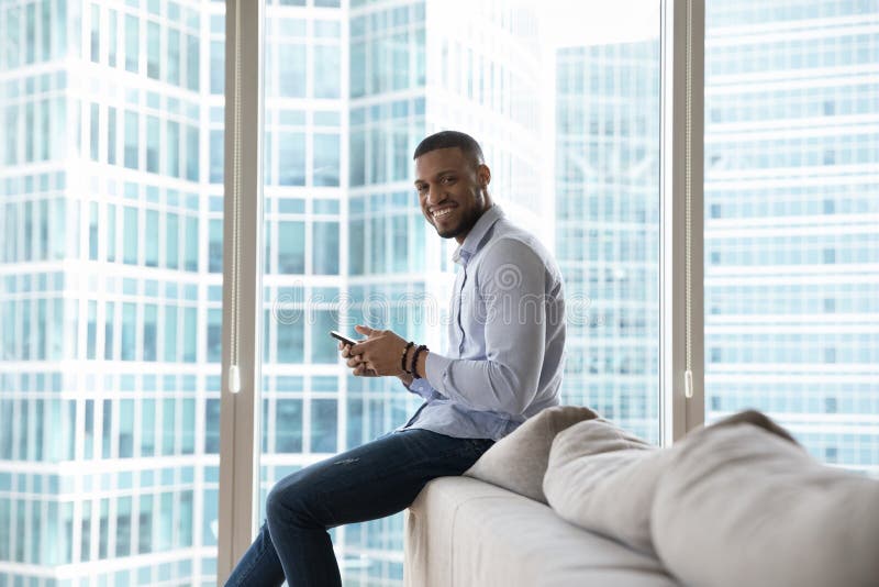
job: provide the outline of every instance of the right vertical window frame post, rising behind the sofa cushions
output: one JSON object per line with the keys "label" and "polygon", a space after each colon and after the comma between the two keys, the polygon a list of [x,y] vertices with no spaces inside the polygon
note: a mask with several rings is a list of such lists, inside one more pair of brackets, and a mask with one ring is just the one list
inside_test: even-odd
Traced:
{"label": "right vertical window frame post, rising behind the sofa cushions", "polygon": [[704,0],[663,4],[659,372],[665,445],[704,421]]}

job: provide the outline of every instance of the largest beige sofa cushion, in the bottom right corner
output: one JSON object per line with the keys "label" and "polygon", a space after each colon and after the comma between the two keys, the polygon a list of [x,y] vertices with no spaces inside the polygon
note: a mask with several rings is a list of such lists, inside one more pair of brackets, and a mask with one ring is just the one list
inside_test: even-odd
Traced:
{"label": "largest beige sofa cushion, in the bottom right corner", "polygon": [[676,445],[657,485],[653,543],[704,587],[879,582],[879,481],[827,467],[752,424]]}

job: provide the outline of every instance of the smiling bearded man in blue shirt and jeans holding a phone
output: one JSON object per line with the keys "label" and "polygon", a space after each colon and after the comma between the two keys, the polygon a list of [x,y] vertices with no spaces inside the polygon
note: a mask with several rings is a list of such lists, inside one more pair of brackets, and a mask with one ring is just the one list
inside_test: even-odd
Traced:
{"label": "smiling bearded man in blue shirt and jeans holding a phone", "polygon": [[407,508],[435,477],[460,475],[526,418],[558,403],[565,302],[554,259],[514,226],[488,191],[491,170],[469,135],[444,131],[415,149],[415,189],[427,222],[455,239],[449,350],[389,330],[340,343],[355,376],[397,376],[424,405],[378,440],[281,479],[267,521],[227,585],[342,585],[330,528]]}

